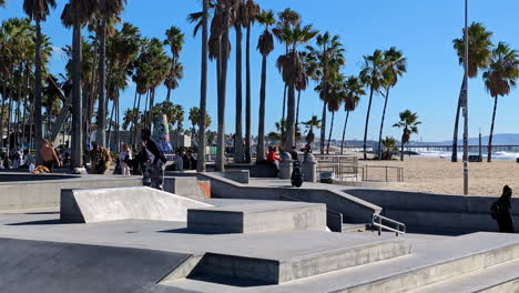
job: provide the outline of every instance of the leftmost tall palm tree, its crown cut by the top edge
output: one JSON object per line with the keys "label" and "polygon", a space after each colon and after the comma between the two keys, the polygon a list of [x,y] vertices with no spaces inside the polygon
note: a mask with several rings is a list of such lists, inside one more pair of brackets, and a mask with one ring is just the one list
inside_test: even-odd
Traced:
{"label": "leftmost tall palm tree, its crown cut by the top edge", "polygon": [[[4,1],[0,2],[0,6],[4,7]],[[42,21],[47,20],[47,17],[50,13],[50,8],[55,8],[55,0],[24,0],[23,1],[23,11],[29,16],[30,19],[35,21],[37,27],[37,38],[35,38],[35,54],[34,54],[34,124],[41,125],[43,121],[41,120],[41,26]],[[35,128],[35,144],[37,150],[40,149],[42,133],[41,128]],[[0,140],[1,140],[0,135]],[[41,162],[41,154],[37,151],[37,162]]]}

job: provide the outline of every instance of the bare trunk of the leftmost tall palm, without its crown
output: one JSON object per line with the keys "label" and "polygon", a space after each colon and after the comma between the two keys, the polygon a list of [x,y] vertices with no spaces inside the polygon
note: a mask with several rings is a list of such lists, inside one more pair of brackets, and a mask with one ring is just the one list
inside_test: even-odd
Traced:
{"label": "bare trunk of the leftmost tall palm, without its crown", "polygon": [[[34,143],[35,143],[35,161],[37,164],[42,163],[41,154],[39,152],[41,146],[42,133],[41,133],[41,125],[43,121],[41,120],[41,27],[40,21],[35,20],[37,24],[37,41],[35,41],[35,60],[34,60],[34,125],[35,125],[35,133],[34,133]],[[3,95],[6,98],[6,95]],[[2,107],[3,112],[3,107]],[[3,117],[3,113],[2,115]],[[32,125],[30,125],[32,132]],[[0,124],[0,138],[1,135],[1,124]],[[1,139],[0,139],[1,140]],[[30,139],[29,139],[30,140]]]}

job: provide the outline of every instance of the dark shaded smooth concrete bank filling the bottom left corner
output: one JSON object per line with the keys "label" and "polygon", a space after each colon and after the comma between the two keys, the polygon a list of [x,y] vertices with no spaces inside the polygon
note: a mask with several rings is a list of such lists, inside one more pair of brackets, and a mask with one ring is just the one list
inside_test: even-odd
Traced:
{"label": "dark shaded smooth concrete bank filling the bottom left corner", "polygon": [[0,239],[0,287],[9,293],[142,293],[190,255]]}

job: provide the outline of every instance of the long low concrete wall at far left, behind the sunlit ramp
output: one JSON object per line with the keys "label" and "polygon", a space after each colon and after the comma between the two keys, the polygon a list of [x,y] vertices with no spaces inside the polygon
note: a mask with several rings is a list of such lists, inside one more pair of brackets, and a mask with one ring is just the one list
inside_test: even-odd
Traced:
{"label": "long low concrete wall at far left, behind the sunlit ramp", "polygon": [[141,178],[91,175],[77,179],[32,182],[1,182],[0,211],[51,208],[59,209],[62,189],[142,186]]}

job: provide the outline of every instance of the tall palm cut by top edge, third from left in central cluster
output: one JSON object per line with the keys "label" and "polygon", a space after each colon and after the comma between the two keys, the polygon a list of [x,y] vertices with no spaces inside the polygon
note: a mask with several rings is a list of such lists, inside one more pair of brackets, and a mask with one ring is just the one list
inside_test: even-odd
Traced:
{"label": "tall palm cut by top edge, third from left in central cluster", "polygon": [[234,162],[242,163],[245,159],[243,148],[243,111],[242,111],[242,24],[245,22],[244,2],[243,0],[236,1],[236,10],[234,11],[233,24],[236,32],[236,122],[234,123]]}

